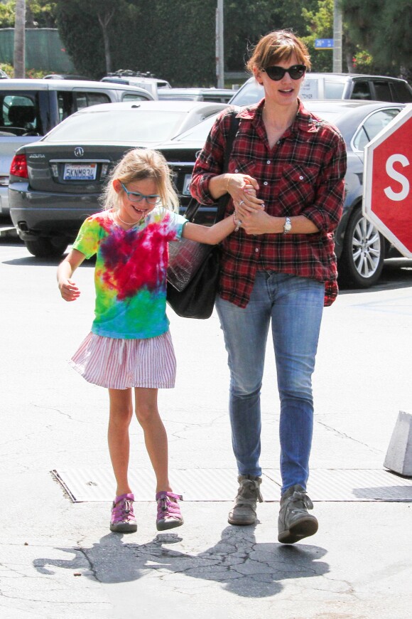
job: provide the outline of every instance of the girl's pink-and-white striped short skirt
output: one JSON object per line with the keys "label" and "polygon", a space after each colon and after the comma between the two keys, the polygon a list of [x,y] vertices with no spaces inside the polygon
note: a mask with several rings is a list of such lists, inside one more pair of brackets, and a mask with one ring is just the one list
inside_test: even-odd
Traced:
{"label": "girl's pink-and-white striped short skirt", "polygon": [[148,339],[90,333],[69,364],[89,383],[109,389],[175,386],[176,359],[169,331]]}

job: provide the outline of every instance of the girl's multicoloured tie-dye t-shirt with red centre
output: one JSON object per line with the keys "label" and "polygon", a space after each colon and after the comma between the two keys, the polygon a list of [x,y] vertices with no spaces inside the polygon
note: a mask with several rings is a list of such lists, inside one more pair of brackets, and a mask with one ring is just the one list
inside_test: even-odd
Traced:
{"label": "girl's multicoloured tie-dye t-shirt with red centre", "polygon": [[180,239],[186,222],[163,207],[127,231],[114,222],[113,211],[86,219],[73,248],[86,258],[96,254],[93,333],[145,339],[168,330],[168,241]]}

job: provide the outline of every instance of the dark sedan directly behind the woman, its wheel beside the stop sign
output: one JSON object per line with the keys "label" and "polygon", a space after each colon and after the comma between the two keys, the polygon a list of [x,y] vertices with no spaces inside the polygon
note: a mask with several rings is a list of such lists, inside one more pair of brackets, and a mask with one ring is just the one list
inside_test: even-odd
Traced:
{"label": "dark sedan directly behind the woman, its wheel beside the stop sign", "polygon": [[[362,216],[364,147],[403,109],[401,103],[318,100],[305,101],[305,106],[340,129],[347,146],[345,205],[335,233],[335,251],[340,282],[367,288],[381,275],[384,258],[389,257],[391,245]],[[213,118],[207,119],[176,137],[160,150],[175,171],[183,208],[190,201],[190,176],[196,154],[205,142]],[[202,221],[212,223],[215,208],[200,210]]]}

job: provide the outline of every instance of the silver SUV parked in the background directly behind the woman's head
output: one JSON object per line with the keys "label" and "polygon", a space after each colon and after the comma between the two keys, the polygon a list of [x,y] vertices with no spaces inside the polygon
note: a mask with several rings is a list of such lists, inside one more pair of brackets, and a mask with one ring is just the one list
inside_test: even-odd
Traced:
{"label": "silver SUV parked in the background directly behind the woman's head", "polygon": [[[358,73],[306,73],[300,99],[352,99],[361,101],[412,102],[406,80]],[[230,100],[231,105],[252,105],[264,97],[264,88],[249,78]]]}

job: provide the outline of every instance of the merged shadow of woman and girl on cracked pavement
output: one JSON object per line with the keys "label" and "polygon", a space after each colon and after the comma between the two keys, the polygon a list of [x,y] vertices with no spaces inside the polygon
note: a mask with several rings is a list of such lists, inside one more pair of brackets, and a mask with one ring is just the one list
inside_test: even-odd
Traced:
{"label": "merged shadow of woman and girl on cracked pavement", "polygon": [[246,598],[276,595],[286,578],[310,578],[329,571],[329,565],[319,561],[325,549],[310,544],[259,544],[254,527],[226,527],[217,544],[200,554],[174,550],[172,544],[182,538],[173,533],[158,534],[141,545],[124,544],[123,539],[124,535],[108,534],[92,548],[58,549],[74,553],[73,559],[36,559],[33,565],[43,574],[53,574],[50,568],[75,573],[85,569],[85,576],[101,583],[136,581],[150,571],[159,571],[160,578],[170,572],[221,583],[227,591]]}

